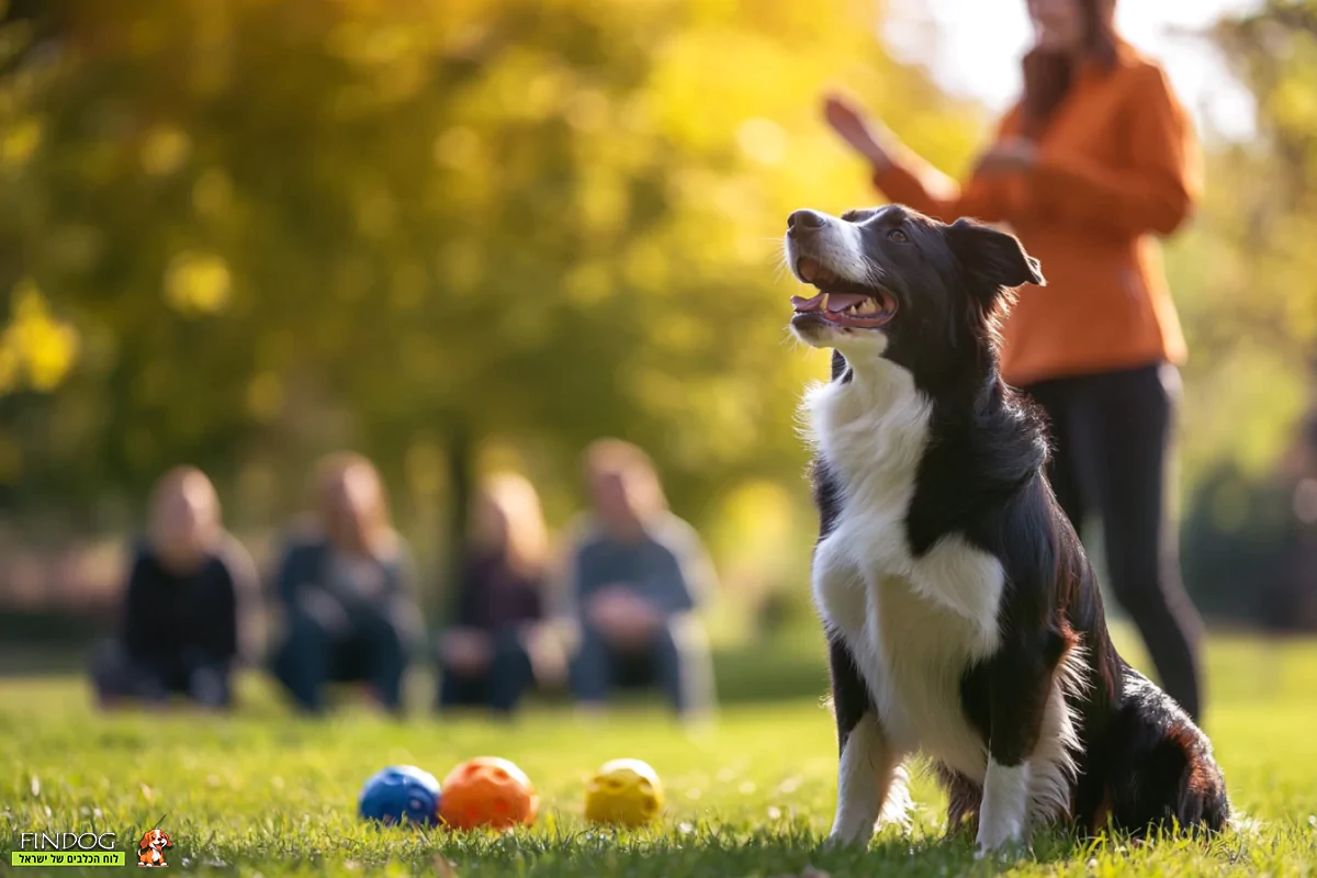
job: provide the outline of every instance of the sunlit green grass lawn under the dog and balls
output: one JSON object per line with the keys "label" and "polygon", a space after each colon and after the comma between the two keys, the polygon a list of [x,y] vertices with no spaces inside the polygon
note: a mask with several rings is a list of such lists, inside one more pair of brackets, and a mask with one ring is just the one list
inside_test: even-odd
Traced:
{"label": "sunlit green grass lawn under the dog and balls", "polygon": [[[797,663],[795,673],[822,682],[813,659],[801,661],[809,670]],[[552,708],[515,727],[421,715],[394,724],[357,707],[311,723],[292,719],[255,679],[244,681],[248,706],[234,717],[105,717],[76,679],[0,681],[0,871],[22,831],[95,824],[132,845],[159,821],[176,844],[173,866],[263,875],[452,874],[444,864],[460,875],[730,878],[798,875],[807,866],[834,877],[1317,873],[1317,645],[1221,640],[1209,652],[1209,679],[1208,731],[1247,817],[1242,829],[1210,844],[1163,839],[1139,848],[1048,832],[1009,862],[976,861],[969,840],[943,837],[943,800],[926,777],[915,783],[909,837],[885,831],[867,852],[820,849],[835,758],[818,698],[734,704],[714,729],[689,736],[645,708],[598,727]],[[443,777],[485,753],[516,761],[536,782],[543,807],[533,828],[489,836],[357,821],[356,796],[374,770],[407,762]],[[652,829],[614,835],[582,820],[585,775],[618,756],[649,761],[666,783],[668,810]]]}

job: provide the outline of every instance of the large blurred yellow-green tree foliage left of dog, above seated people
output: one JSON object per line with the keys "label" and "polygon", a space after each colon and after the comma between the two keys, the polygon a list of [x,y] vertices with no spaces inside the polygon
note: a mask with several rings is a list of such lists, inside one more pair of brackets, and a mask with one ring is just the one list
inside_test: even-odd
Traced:
{"label": "large blurred yellow-green tree foliage left of dog, above seated people", "polygon": [[818,91],[952,163],[982,121],[888,61],[876,14],[25,4],[0,30],[0,321],[43,341],[0,349],[11,503],[113,524],[97,503],[191,461],[265,524],[329,448],[425,502],[491,437],[562,488],[602,433],[697,517],[724,484],[798,482],[826,366],[782,344],[776,236],[871,197]]}

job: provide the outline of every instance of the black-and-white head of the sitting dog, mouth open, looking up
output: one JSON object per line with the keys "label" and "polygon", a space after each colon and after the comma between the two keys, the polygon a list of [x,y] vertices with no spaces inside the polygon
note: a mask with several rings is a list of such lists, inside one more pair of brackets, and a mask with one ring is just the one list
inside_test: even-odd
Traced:
{"label": "black-and-white head of the sitting dog, mouth open, looking up", "polygon": [[792,297],[797,337],[852,363],[882,357],[927,379],[971,361],[989,365],[1010,290],[1046,283],[1013,236],[900,204],[840,217],[795,211],[786,259],[813,287]]}

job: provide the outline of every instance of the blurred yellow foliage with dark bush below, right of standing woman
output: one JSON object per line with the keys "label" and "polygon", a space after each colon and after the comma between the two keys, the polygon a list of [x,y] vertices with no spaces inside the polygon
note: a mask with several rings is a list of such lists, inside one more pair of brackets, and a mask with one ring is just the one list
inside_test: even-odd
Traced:
{"label": "blurred yellow foliage with dark bush below, right of standing woman", "polygon": [[1281,594],[1301,528],[1276,461],[1317,411],[1317,3],[1264,0],[1210,37],[1252,92],[1258,137],[1216,145],[1201,216],[1172,251],[1193,350],[1185,581],[1205,612],[1275,624],[1301,603]]}

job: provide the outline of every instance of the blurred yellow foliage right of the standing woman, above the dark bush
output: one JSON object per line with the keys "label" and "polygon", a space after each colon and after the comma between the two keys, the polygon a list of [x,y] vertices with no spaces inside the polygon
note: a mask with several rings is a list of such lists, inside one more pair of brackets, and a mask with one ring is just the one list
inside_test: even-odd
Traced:
{"label": "blurred yellow foliage right of the standing woman, above the dark bush", "polygon": [[[1317,340],[1317,3],[1266,0],[1209,34],[1258,136],[1212,142],[1206,199],[1171,250],[1191,344],[1185,463],[1271,467],[1308,405]],[[1241,413],[1247,412],[1247,417]]]}

